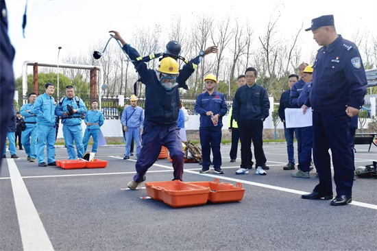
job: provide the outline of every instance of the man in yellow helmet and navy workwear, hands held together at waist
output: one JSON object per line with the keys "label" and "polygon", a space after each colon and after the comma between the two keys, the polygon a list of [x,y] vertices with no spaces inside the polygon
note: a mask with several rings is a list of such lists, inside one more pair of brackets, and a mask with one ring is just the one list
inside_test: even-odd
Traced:
{"label": "man in yellow helmet and navy workwear, hands held together at waist", "polygon": [[[199,136],[202,145],[202,170],[200,174],[210,172],[210,150],[213,154],[213,167],[215,174],[223,174],[221,170],[221,128],[223,128],[223,116],[228,111],[228,106],[223,93],[215,91],[217,79],[215,75],[208,74],[204,77],[207,91],[197,96],[195,112],[200,115]],[[212,118],[212,119],[211,119]]]}

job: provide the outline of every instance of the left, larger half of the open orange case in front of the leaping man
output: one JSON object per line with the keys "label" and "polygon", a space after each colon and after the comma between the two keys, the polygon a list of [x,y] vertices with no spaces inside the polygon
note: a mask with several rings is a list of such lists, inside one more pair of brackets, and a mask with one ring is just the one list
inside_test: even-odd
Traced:
{"label": "left, larger half of the open orange case in front of the leaping man", "polygon": [[180,180],[145,182],[147,194],[154,200],[163,200],[174,208],[206,204],[210,189]]}

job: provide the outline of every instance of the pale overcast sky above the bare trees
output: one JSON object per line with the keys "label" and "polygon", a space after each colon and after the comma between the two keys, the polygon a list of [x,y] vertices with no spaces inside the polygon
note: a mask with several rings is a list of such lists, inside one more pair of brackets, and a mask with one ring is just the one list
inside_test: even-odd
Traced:
{"label": "pale overcast sky above the bare trees", "polygon": [[[285,39],[297,33],[302,23],[311,26],[311,19],[334,14],[338,34],[351,40],[358,29],[377,36],[377,1],[112,1],[112,0],[29,0],[25,38],[22,35],[26,0],[8,0],[9,35],[16,49],[14,73],[19,77],[26,60],[56,63],[72,54],[88,53],[90,45],[108,40],[108,31],[121,32],[130,40],[132,32],[141,27],[161,25],[169,29],[173,14],[182,16],[190,26],[197,15],[217,19],[230,16],[240,23],[252,22],[254,38],[263,36],[271,14],[280,11],[278,29]],[[165,39],[167,42],[168,38]],[[303,49],[318,46],[311,32],[302,32]],[[115,42],[113,42],[115,43]],[[103,48],[98,48],[101,51]],[[310,53],[306,53],[309,55]],[[32,67],[30,67],[32,68]],[[32,73],[32,69],[29,69]]]}

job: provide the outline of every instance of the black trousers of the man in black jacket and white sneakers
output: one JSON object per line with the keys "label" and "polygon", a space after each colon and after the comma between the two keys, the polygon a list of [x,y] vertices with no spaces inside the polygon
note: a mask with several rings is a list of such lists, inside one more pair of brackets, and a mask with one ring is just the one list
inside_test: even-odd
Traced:
{"label": "black trousers of the man in black jacket and white sneakers", "polygon": [[254,144],[254,155],[256,167],[262,167],[266,163],[265,152],[263,152],[263,121],[237,121],[241,139],[241,167],[247,169],[252,165],[251,147]]}

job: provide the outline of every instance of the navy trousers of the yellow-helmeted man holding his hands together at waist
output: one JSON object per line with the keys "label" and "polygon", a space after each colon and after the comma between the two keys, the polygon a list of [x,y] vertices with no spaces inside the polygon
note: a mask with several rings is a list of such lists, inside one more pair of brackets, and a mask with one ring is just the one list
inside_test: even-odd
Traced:
{"label": "navy trousers of the yellow-helmeted man holding his hands together at waist", "polygon": [[200,145],[202,146],[203,169],[210,168],[210,150],[212,149],[213,167],[221,167],[221,126],[199,127]]}

